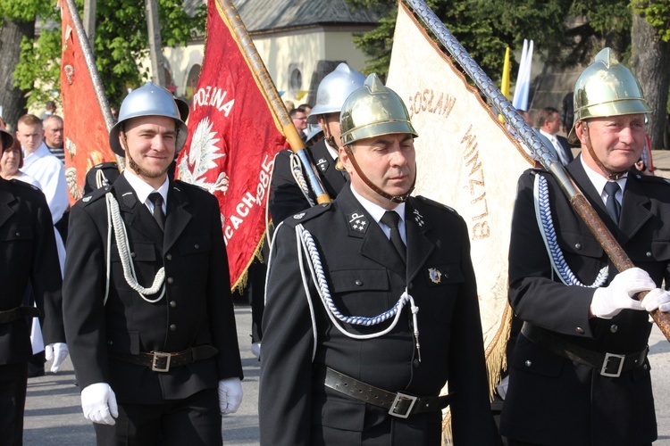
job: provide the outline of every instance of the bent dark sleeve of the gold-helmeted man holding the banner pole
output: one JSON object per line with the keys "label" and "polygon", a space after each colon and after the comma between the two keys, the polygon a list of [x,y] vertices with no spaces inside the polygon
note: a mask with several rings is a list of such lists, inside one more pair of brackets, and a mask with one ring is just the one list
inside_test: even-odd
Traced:
{"label": "bent dark sleeve of the gold-helmeted man holding the banner pole", "polygon": [[[519,179],[509,247],[509,303],[519,318],[533,325],[565,335],[574,335],[574,327],[582,326],[590,336],[594,288],[568,286],[552,278],[549,253],[535,217],[533,181],[534,175],[528,172]],[[552,183],[549,178],[549,186]],[[556,189],[549,192],[552,204],[565,199],[556,196]]]}

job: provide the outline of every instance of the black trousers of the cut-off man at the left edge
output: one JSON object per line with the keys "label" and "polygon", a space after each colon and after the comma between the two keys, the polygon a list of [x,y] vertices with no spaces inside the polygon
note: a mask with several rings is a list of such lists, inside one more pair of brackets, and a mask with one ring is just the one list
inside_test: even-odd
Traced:
{"label": "black trousers of the cut-off man at the left edge", "polygon": [[0,365],[0,435],[2,443],[23,444],[28,362]]}

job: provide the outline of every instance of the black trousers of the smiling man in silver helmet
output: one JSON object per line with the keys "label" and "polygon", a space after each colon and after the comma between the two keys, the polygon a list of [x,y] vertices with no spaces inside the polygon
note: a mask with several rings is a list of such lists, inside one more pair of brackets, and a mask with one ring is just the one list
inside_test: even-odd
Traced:
{"label": "black trousers of the smiling man in silver helmet", "polygon": [[219,393],[207,389],[186,400],[119,404],[115,425],[94,423],[94,426],[99,446],[220,445]]}

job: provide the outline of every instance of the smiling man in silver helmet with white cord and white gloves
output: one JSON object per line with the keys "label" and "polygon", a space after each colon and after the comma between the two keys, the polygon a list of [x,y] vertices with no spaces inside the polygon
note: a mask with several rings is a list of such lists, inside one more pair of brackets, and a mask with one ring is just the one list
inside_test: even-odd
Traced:
{"label": "smiling man in silver helmet with white cord and white gloves", "polygon": [[221,444],[242,398],[218,202],[167,174],[186,136],[170,92],[134,90],[110,132],[127,169],[71,210],[65,335],[100,444]]}

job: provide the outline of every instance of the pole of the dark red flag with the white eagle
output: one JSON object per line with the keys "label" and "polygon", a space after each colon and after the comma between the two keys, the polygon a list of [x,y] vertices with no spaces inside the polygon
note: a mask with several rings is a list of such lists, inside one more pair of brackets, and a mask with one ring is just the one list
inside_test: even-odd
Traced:
{"label": "pole of the dark red flag with the white eagle", "polygon": [[297,133],[297,128],[293,124],[293,120],[290,119],[289,113],[286,111],[286,106],[281,101],[277,87],[274,86],[272,78],[270,78],[270,73],[268,73],[267,68],[265,68],[263,59],[261,59],[260,54],[256,51],[254,42],[251,40],[251,37],[249,37],[249,33],[247,32],[247,28],[239,18],[238,10],[235,9],[235,6],[230,0],[216,1],[219,2],[222,7],[226,19],[230,21],[230,29],[239,42],[242,53],[245,54],[247,61],[250,62],[251,72],[259,87],[261,87],[261,91],[267,98],[268,103],[270,103],[272,114],[274,114],[275,118],[280,122],[284,136],[286,136],[286,139],[289,141],[291,150],[293,153],[297,154],[300,162],[306,167],[307,180],[312,187],[314,195],[316,195],[316,202],[330,202],[331,197],[325,191],[321,184],[321,180],[319,180],[319,177],[316,175],[314,165],[309,161],[309,158],[307,158],[305,143],[300,139],[300,136]]}

